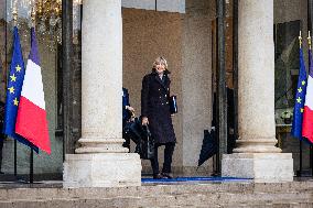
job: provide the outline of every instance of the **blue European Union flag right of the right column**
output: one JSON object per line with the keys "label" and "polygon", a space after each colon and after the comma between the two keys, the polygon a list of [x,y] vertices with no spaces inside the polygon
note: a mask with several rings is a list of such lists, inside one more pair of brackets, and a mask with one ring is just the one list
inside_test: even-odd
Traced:
{"label": "blue European Union flag right of the right column", "polygon": [[306,70],[303,57],[303,51],[300,48],[300,70],[298,78],[298,87],[295,94],[295,102],[293,108],[293,121],[291,134],[300,140],[302,140],[302,119],[304,110],[304,101],[306,94]]}

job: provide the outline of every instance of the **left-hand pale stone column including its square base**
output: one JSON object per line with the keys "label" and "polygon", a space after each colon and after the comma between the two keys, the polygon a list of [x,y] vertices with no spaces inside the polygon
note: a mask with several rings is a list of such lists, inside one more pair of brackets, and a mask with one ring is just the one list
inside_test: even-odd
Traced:
{"label": "left-hand pale stone column including its square base", "polygon": [[65,156],[64,186],[140,186],[140,157],[122,147],[121,0],[84,0],[82,65],[80,147]]}

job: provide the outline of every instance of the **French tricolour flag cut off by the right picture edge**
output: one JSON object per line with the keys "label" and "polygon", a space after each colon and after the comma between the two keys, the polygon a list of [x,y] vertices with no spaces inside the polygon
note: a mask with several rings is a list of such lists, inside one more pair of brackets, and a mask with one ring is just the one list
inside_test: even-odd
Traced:
{"label": "French tricolour flag cut off by the right picture edge", "polygon": [[313,143],[313,58],[312,51],[309,51],[310,72],[307,77],[306,96],[302,121],[302,136]]}

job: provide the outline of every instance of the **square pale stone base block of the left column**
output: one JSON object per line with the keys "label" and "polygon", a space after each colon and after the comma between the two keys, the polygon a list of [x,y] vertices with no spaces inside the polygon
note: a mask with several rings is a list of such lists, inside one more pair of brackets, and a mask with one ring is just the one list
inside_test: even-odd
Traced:
{"label": "square pale stone base block of the left column", "polygon": [[66,154],[64,187],[125,187],[141,185],[137,153]]}

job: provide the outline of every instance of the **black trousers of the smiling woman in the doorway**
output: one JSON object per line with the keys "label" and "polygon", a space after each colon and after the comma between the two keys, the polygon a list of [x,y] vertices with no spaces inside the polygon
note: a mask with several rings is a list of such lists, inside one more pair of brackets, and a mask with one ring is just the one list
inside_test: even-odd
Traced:
{"label": "black trousers of the smiling woman in the doorway", "polygon": [[172,172],[172,157],[175,149],[175,143],[174,142],[169,142],[165,144],[159,144],[156,143],[154,145],[154,157],[150,160],[153,175],[159,174],[159,160],[158,160],[158,149],[161,145],[165,145],[164,150],[164,163],[163,163],[163,168],[162,173],[171,173]]}

